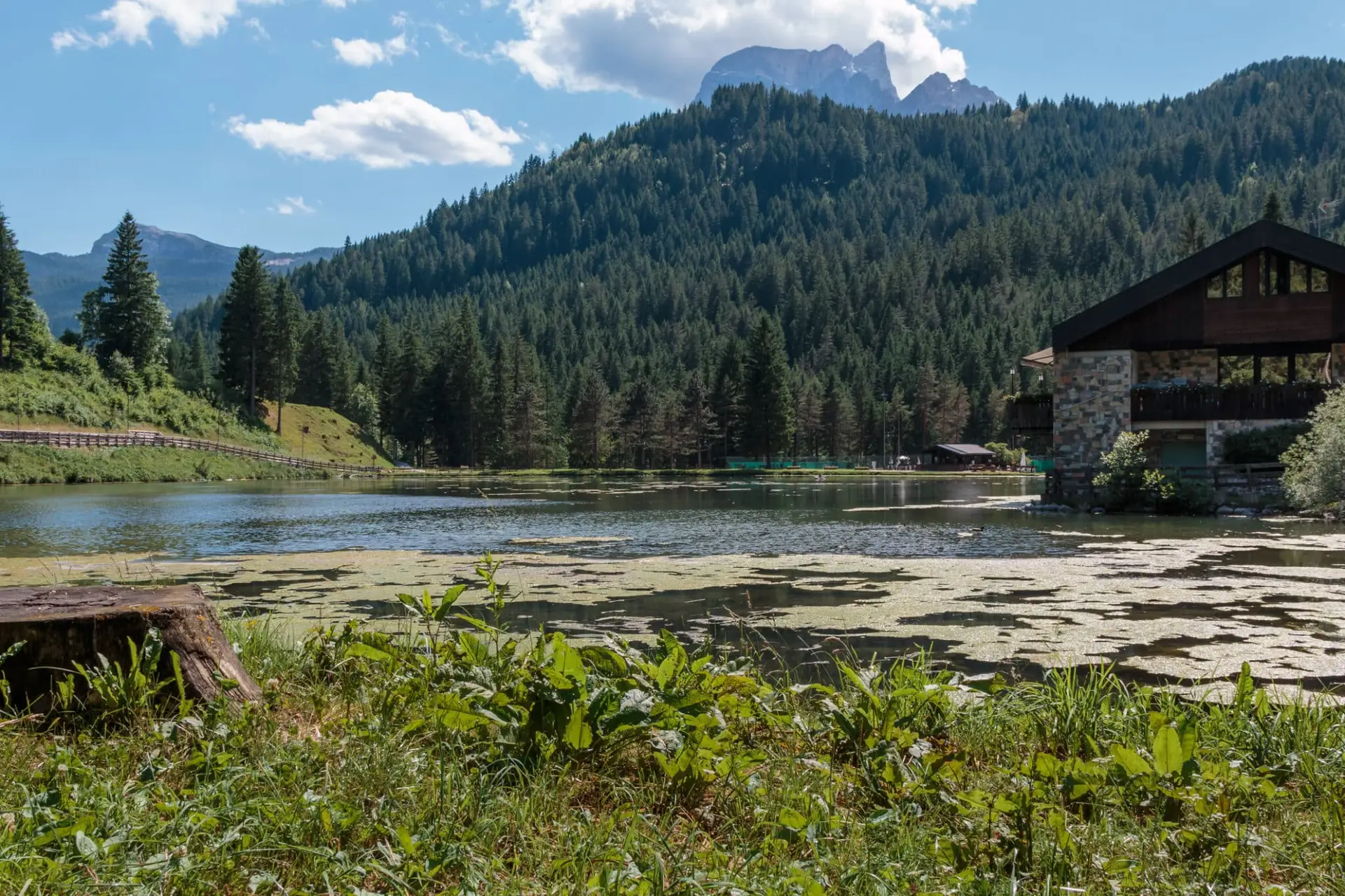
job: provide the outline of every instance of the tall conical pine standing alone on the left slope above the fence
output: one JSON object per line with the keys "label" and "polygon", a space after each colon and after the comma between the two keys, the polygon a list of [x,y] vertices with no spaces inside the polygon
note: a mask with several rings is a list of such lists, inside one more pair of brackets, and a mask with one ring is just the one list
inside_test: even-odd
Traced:
{"label": "tall conical pine standing alone on the left slope above the fence", "polygon": [[144,372],[167,360],[168,309],[159,300],[159,282],[149,273],[140,228],[130,212],[117,226],[102,286],[85,294],[79,326],[85,344],[105,367],[121,355]]}

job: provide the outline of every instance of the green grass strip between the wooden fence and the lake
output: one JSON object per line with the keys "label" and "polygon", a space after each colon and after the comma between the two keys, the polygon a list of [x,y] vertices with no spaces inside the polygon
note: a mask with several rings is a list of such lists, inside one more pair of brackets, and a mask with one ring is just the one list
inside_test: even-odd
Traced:
{"label": "green grass strip between the wooden fence and the lake", "polygon": [[51,449],[0,443],[0,485],[56,482],[195,482],[323,477],[282,463],[180,449]]}

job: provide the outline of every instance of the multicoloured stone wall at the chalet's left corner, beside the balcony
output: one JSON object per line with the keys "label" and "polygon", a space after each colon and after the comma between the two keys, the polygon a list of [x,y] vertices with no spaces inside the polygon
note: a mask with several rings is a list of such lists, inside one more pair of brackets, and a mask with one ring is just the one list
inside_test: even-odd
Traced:
{"label": "multicoloured stone wall at the chalet's left corner, beside the balcony", "polygon": [[1135,353],[1056,355],[1054,442],[1057,470],[1098,465],[1120,433],[1130,430],[1130,387]]}

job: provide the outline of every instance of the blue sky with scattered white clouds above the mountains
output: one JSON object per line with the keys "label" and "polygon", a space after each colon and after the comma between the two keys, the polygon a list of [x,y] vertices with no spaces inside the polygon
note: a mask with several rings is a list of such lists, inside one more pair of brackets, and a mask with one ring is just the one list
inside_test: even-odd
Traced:
{"label": "blue sky with scattered white clouds above the mountains", "polygon": [[[620,11],[620,12],[619,12]],[[1340,0],[0,0],[0,203],[32,251],[122,211],[272,250],[406,227],[683,105],[749,44],[888,44],[1006,98],[1122,101],[1341,55]]]}

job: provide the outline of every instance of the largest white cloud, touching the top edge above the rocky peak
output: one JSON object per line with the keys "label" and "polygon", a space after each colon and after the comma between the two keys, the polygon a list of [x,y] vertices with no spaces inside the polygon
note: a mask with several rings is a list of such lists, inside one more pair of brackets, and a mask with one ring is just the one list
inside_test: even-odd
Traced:
{"label": "largest white cloud, touching the top edge above the rocky peak", "polygon": [[749,46],[888,47],[902,94],[935,71],[966,77],[939,15],[975,0],[510,0],[523,38],[496,46],[543,87],[623,90],[682,103],[720,58]]}

